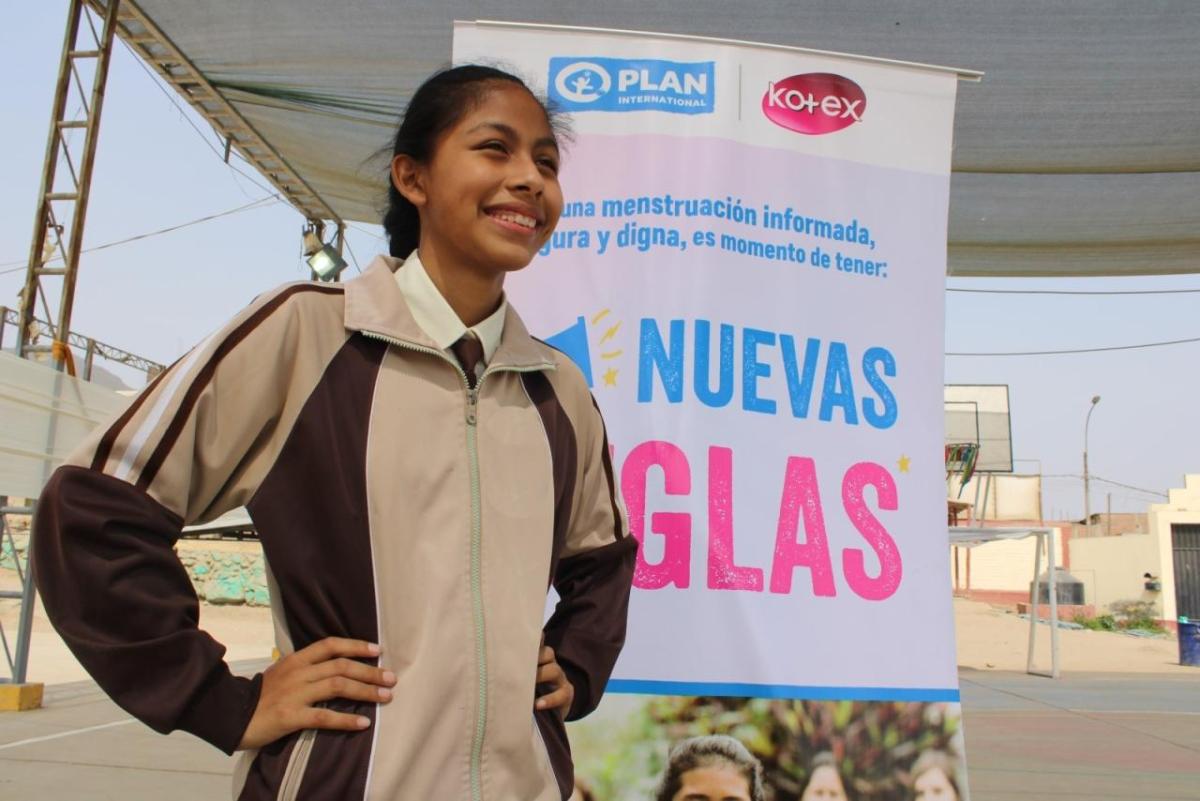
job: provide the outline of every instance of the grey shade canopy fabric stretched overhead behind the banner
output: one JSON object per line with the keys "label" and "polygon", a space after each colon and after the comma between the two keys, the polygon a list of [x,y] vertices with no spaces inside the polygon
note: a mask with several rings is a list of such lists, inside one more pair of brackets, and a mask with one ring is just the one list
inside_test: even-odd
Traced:
{"label": "grey shade canopy fabric stretched overhead behind the banner", "polygon": [[378,222],[379,153],[404,98],[448,64],[452,20],[500,16],[980,70],[959,90],[950,275],[1200,272],[1189,0],[136,5],[346,219]]}

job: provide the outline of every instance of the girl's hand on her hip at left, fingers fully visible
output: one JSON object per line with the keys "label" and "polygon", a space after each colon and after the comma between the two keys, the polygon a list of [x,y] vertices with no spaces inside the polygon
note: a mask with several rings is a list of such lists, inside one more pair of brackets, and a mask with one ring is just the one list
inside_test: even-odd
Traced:
{"label": "girl's hand on her hip at left, fingers fully visible", "polygon": [[[379,646],[356,639],[326,637],[289,654],[263,673],[258,706],[239,748],[260,748],[300,729],[359,731],[371,718],[316,706],[335,698],[386,704],[396,674],[359,662],[379,656]],[[540,675],[540,673],[539,673]]]}

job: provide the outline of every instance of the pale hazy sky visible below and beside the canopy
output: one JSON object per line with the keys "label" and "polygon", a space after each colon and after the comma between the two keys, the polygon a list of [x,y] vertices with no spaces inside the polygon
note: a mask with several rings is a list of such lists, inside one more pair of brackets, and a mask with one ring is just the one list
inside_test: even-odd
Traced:
{"label": "pale hazy sky visible below and beside the canopy", "polygon": [[[24,281],[66,8],[65,0],[28,4],[10,14],[0,30],[0,76],[6,88],[0,305],[10,307],[17,306]],[[164,90],[124,46],[114,47],[85,248],[227,212],[271,194],[248,165],[241,163],[245,175],[239,175],[222,163],[214,152],[218,144],[211,128],[190,109],[176,108],[166,91],[172,90]],[[269,203],[86,253],[72,330],[172,362],[259,293],[307,277],[300,254],[302,222],[290,206]],[[385,249],[378,234],[377,227],[358,223],[349,230],[352,259],[358,265],[365,267]],[[354,270],[352,265],[349,273]],[[1200,276],[950,278],[947,288],[1200,289]],[[1100,348],[1200,337],[1200,295],[1195,294],[948,291],[946,307],[948,353]],[[6,338],[12,336],[11,330],[6,332]],[[115,372],[136,381],[136,374]],[[946,360],[946,381],[1009,386],[1016,470],[1044,476],[1046,519],[1082,517],[1084,423],[1096,395],[1102,399],[1087,441],[1093,512],[1105,508],[1109,493],[1115,512],[1142,512],[1147,504],[1165,500],[1169,488],[1182,486],[1186,472],[1200,472],[1195,414],[1200,343],[1067,356],[954,356]]]}

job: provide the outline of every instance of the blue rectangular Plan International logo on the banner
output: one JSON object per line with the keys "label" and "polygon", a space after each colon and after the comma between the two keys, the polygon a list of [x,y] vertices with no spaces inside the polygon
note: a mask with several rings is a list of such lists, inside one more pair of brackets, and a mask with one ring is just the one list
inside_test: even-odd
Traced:
{"label": "blue rectangular Plan International logo on the banner", "polygon": [[712,114],[712,61],[556,56],[550,100],[568,112]]}

